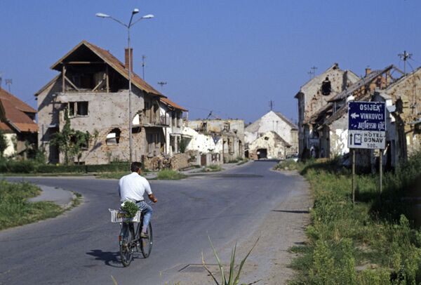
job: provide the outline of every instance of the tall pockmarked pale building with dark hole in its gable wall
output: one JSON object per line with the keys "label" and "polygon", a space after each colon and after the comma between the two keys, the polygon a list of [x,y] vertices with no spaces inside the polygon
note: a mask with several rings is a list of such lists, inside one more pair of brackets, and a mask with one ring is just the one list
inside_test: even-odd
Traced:
{"label": "tall pockmarked pale building with dark hole in its gable wall", "polygon": [[359,80],[354,72],[340,69],[338,63],[335,63],[300,88],[295,98],[298,100],[298,155],[301,159],[310,157],[310,152],[315,149],[322,151],[319,138],[312,128],[311,118],[321,108],[329,105],[332,98]]}

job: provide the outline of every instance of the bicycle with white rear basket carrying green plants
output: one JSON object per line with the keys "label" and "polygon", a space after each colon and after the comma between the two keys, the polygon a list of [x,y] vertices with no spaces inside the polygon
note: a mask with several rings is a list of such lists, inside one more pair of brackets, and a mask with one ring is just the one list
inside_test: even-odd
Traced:
{"label": "bicycle with white rear basket carrying green plants", "polygon": [[126,212],[120,210],[112,210],[111,222],[120,224],[119,234],[119,250],[121,263],[124,267],[128,267],[133,260],[133,254],[142,253],[144,258],[148,258],[152,251],[152,223],[147,226],[147,238],[140,237],[140,231],[143,224],[143,214],[138,211],[133,218],[127,218]]}

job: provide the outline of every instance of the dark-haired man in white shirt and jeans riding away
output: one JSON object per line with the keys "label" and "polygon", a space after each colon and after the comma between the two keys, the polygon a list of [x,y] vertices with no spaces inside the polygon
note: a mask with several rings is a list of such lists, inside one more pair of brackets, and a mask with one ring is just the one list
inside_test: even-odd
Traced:
{"label": "dark-haired man in white shirt and jeans riding away", "polygon": [[135,161],[131,164],[130,168],[132,173],[124,175],[119,180],[120,201],[133,201],[136,206],[139,207],[140,211],[142,211],[144,218],[140,237],[147,238],[147,226],[152,218],[152,207],[146,204],[145,199],[143,199],[143,194],[147,192],[149,200],[154,203],[158,200],[154,197],[154,194],[152,194],[149,182],[140,175],[142,174],[142,164]]}

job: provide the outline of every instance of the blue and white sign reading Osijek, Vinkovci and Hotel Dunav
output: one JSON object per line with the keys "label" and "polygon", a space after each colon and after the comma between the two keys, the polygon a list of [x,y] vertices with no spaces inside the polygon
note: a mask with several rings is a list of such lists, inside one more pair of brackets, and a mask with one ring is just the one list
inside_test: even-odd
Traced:
{"label": "blue and white sign reading Osijek, Vinkovci and Hotel Dunav", "polygon": [[348,102],[348,147],[385,149],[384,102]]}

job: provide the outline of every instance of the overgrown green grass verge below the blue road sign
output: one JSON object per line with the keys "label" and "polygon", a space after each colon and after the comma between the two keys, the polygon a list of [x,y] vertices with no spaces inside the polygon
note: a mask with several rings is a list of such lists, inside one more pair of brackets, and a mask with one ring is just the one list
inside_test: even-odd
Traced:
{"label": "overgrown green grass verge below the blue road sign", "polygon": [[297,164],[314,207],[307,244],[291,248],[298,274],[290,284],[420,284],[421,231],[402,198],[419,188],[421,153],[385,174],[382,197],[377,175],[357,176],[354,205],[351,175],[338,162]]}

